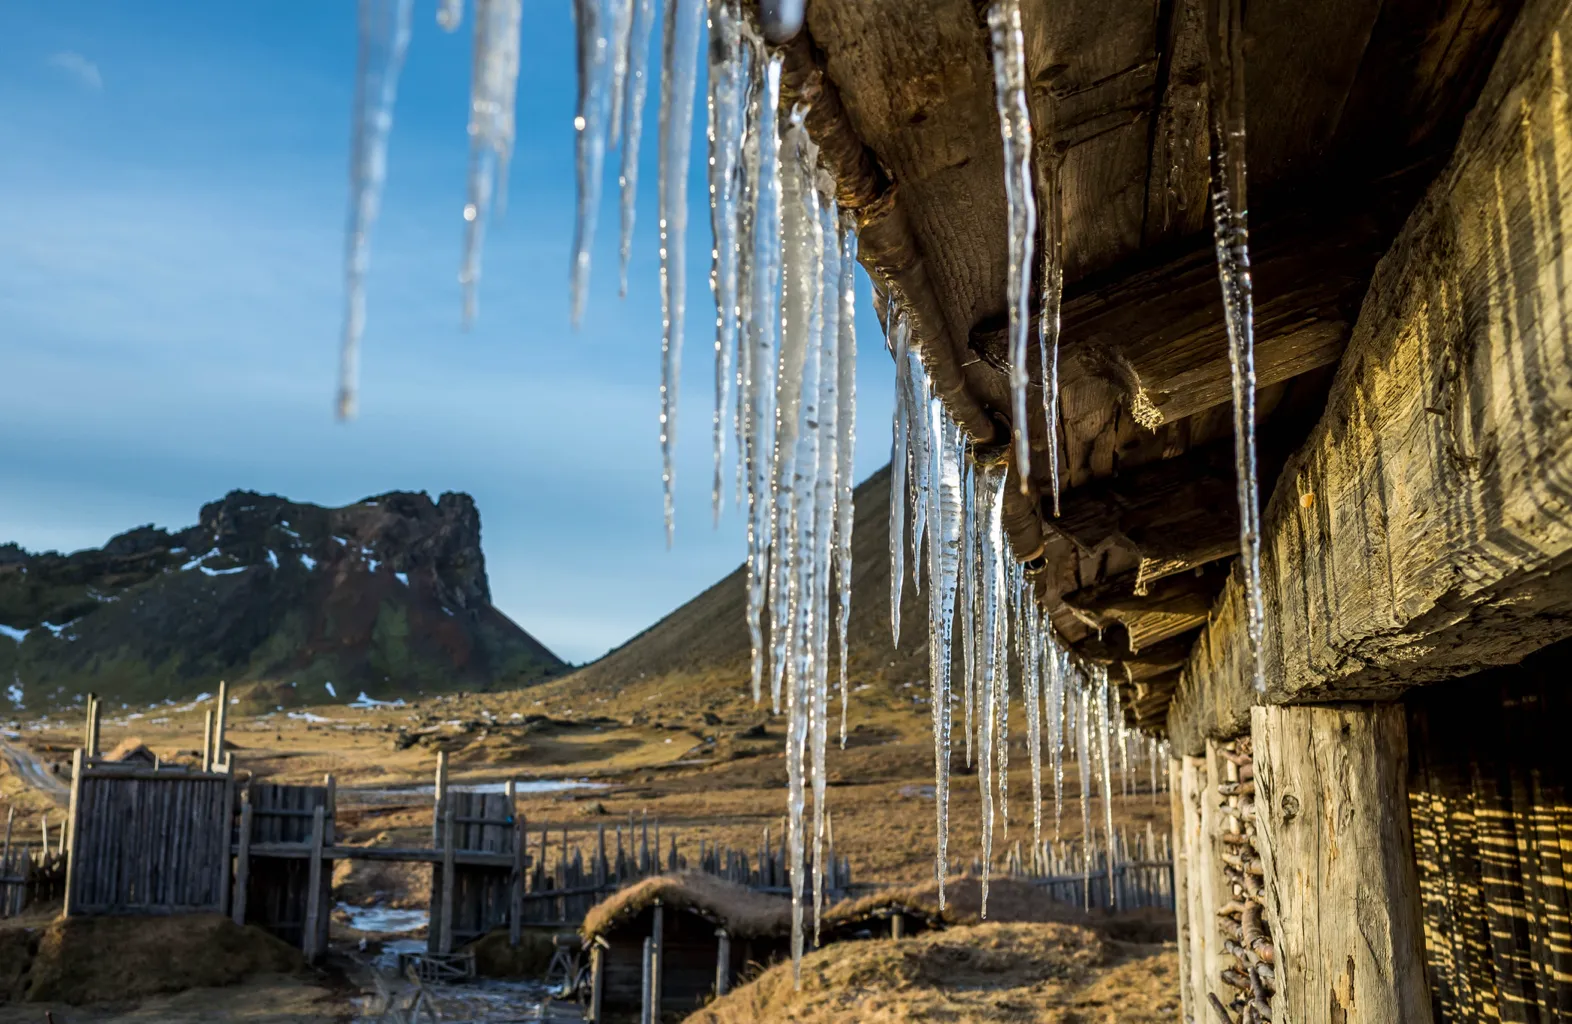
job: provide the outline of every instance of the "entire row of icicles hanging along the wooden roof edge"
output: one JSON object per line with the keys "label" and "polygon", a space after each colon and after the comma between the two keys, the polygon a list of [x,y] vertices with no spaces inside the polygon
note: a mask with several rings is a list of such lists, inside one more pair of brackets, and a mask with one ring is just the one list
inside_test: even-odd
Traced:
{"label": "entire row of icicles hanging along the wooden roof edge", "polygon": [[[494,192],[503,187],[514,138],[522,0],[476,0],[470,99],[470,171],[461,266],[464,319],[476,313],[479,253]],[[352,197],[346,253],[346,318],[340,415],[355,407],[358,341],[365,326],[369,231],[387,168],[398,76],[409,46],[413,0],[360,2],[360,74],[355,98]],[[792,6],[792,5],[767,5]],[[457,28],[462,0],[439,0],[437,20]],[[799,13],[800,17],[800,13]],[[571,260],[572,319],[585,311],[591,245],[608,146],[619,149],[621,277],[635,225],[640,135],[649,90],[656,0],[574,0],[578,30],[578,217]],[[660,448],[667,538],[673,535],[673,440],[685,330],[687,181],[700,44],[709,33],[709,201],[715,297],[714,505],[718,519],[736,444],[737,500],[745,503],[747,618],[753,692],[769,694],[788,716],[788,842],[792,857],[792,947],[805,945],[806,845],[824,842],[830,717],[832,615],[846,736],[846,653],[850,613],[852,451],[855,436],[854,219],[836,209],[833,181],[805,129],[806,110],[781,124],[781,58],[744,14],[742,0],[663,0],[659,101],[659,234],[662,296]],[[1009,384],[1017,478],[1028,480],[1027,396],[1031,381],[1030,294],[1038,238],[1031,167],[1033,124],[1019,0],[987,13],[1005,146],[1009,247]],[[1254,373],[1248,247],[1243,212],[1243,93],[1239,0],[1209,0],[1214,110],[1214,220],[1228,313],[1239,450],[1242,558],[1250,596],[1250,642],[1259,680],[1259,532],[1254,484]],[[1044,102],[1045,98],[1044,98]],[[1052,115],[1049,115],[1052,118]],[[1052,124],[1039,126],[1052,134]],[[1045,420],[1058,429],[1058,333],[1063,285],[1060,167],[1042,171],[1049,203],[1039,293],[1039,382]],[[954,705],[962,709],[968,763],[982,790],[982,862],[992,860],[995,807],[1008,821],[1009,665],[1019,667],[1033,763],[1033,831],[1041,838],[1042,753],[1053,777],[1055,820],[1064,763],[1082,764],[1082,809],[1091,779],[1111,794],[1111,750],[1130,749],[1118,689],[1100,667],[1082,665],[1055,639],[1036,591],[1008,547],[1001,524],[1006,466],[976,461],[968,440],[934,396],[910,319],[890,296],[887,346],[898,374],[891,451],[891,595],[899,617],[907,519],[913,582],[926,568],[929,673],[935,750],[935,875],[943,893],[948,862],[949,746]],[[1058,513],[1058,445],[1050,444],[1053,511]],[[1009,456],[1005,456],[1009,458]],[[910,505],[910,508],[907,508]],[[926,540],[926,546],[924,546]],[[832,601],[832,588],[835,599]],[[953,689],[953,654],[962,687]],[[899,634],[899,620],[893,623]],[[1259,683],[1258,683],[1259,684]],[[1044,728],[1047,735],[1044,736]],[[1151,752],[1155,766],[1159,750]],[[811,832],[806,791],[813,790]],[[997,801],[997,804],[995,804]],[[1111,804],[1105,799],[1111,834]],[[1086,835],[1093,826],[1082,823]],[[819,856],[813,864],[822,864]],[[984,900],[987,879],[984,876]],[[822,906],[822,878],[813,904]],[[943,895],[940,895],[943,898]],[[986,903],[984,903],[986,906]]]}

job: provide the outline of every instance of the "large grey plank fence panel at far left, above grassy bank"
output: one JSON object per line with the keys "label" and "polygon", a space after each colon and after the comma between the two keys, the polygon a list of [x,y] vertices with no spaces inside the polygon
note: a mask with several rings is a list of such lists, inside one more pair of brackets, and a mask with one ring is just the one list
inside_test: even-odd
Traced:
{"label": "large grey plank fence panel at far left, above grassy bank", "polygon": [[230,909],[230,772],[72,758],[66,915]]}

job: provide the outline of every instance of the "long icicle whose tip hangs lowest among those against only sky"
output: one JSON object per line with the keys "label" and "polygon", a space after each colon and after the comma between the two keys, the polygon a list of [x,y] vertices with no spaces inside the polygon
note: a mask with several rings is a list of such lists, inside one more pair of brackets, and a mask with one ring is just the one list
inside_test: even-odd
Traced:
{"label": "long icicle whose tip hangs lowest among those against only sky", "polygon": [[673,447],[687,311],[687,168],[703,0],[667,0],[660,60],[660,481],[667,547],[676,530]]}

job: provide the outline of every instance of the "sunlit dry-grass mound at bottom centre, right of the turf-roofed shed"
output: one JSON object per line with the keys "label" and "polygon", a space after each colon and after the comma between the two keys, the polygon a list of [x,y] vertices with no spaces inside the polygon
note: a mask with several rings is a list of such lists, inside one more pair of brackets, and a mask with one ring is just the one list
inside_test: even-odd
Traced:
{"label": "sunlit dry-grass mound at bottom centre, right of the turf-roofed shed", "polygon": [[825,947],[803,958],[802,989],[791,964],[777,964],[689,1024],[1166,1024],[1176,961],[1171,948],[1111,944],[1080,925],[968,925]]}

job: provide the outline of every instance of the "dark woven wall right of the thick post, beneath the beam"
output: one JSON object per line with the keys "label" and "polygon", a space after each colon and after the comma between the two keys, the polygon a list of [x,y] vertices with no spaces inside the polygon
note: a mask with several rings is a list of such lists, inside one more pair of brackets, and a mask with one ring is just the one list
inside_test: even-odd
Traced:
{"label": "dark woven wall right of the thick post, beneath the beam", "polygon": [[1435,1019],[1572,1021],[1572,642],[1407,700]]}

